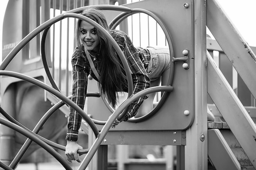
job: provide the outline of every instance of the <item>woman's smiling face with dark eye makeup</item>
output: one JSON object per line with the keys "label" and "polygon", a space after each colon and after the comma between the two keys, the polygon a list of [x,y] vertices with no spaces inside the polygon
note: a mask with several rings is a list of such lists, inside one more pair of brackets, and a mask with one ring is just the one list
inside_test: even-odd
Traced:
{"label": "woman's smiling face with dark eye makeup", "polygon": [[96,28],[88,22],[81,21],[79,31],[79,37],[85,49],[98,53],[100,40]]}

